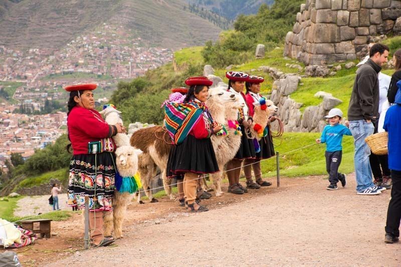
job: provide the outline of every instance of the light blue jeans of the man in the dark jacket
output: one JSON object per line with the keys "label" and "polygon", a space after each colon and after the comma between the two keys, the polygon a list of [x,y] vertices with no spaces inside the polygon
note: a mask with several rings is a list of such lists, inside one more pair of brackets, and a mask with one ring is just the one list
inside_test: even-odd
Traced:
{"label": "light blue jeans of the man in the dark jacket", "polygon": [[362,192],[366,188],[374,186],[369,163],[370,148],[365,142],[365,138],[373,134],[374,126],[373,123],[367,123],[365,120],[350,121],[349,130],[354,137],[355,145],[356,191]]}

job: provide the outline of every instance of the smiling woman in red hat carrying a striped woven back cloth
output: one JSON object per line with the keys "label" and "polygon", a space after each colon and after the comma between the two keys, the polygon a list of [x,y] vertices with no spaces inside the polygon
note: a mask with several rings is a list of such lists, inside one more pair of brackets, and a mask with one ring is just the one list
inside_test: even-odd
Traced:
{"label": "smiling woman in red hat carrying a striped woven back cloth", "polygon": [[185,203],[190,212],[209,210],[195,201],[198,176],[219,171],[210,137],[223,127],[213,121],[204,104],[212,83],[206,77],[188,78],[185,84],[189,90],[183,103],[169,102],[165,106],[166,129],[175,144],[167,172],[184,174]]}

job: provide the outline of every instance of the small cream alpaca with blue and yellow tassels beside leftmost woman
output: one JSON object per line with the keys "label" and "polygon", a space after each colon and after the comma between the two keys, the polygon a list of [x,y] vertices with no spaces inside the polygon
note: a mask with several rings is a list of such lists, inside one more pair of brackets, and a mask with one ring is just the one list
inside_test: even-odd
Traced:
{"label": "small cream alpaca with blue and yellow tassels beside leftmost woman", "polygon": [[[117,148],[115,153],[119,174],[122,177],[133,177],[138,171],[138,155],[142,154],[142,151],[128,145]],[[105,212],[104,216],[105,236],[111,235],[114,228],[114,237],[117,239],[123,237],[122,223],[125,217],[124,213],[132,197],[133,194],[128,192],[120,193],[118,190],[114,191],[113,211]]]}

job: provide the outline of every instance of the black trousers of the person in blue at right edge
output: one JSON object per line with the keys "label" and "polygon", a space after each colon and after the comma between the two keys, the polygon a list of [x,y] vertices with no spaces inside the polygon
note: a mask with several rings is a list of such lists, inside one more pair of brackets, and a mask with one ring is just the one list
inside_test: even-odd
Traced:
{"label": "black trousers of the person in blue at right edge", "polygon": [[385,232],[399,236],[399,220],[401,219],[401,171],[391,170],[391,200],[388,203]]}

